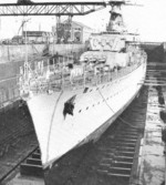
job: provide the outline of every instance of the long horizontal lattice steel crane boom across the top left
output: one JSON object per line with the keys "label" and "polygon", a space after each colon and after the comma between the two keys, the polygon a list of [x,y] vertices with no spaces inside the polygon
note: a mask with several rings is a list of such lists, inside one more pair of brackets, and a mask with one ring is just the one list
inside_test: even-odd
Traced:
{"label": "long horizontal lattice steel crane boom across the top left", "polygon": [[105,7],[105,2],[1,3],[0,16],[85,16]]}

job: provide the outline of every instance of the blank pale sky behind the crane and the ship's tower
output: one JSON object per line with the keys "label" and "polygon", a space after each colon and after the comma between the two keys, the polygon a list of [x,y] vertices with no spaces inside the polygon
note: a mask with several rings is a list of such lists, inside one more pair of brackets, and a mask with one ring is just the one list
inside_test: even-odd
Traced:
{"label": "blank pale sky behind the crane and the ship's tower", "polygon": [[[51,2],[53,0],[33,0],[33,2]],[[69,0],[61,0],[69,1]],[[74,1],[74,0],[70,0]],[[83,0],[82,0],[83,1]],[[85,0],[95,1],[95,0]],[[166,41],[166,0],[131,0],[143,7],[123,7],[124,22],[129,32],[138,32],[143,41]],[[17,0],[0,0],[0,3],[15,3]],[[73,17],[73,20],[82,22],[95,31],[104,30],[110,19],[110,7],[90,13],[84,17]],[[51,31],[55,24],[55,17],[30,17],[27,30]],[[63,17],[62,20],[66,19]],[[12,38],[18,34],[23,17],[1,17],[0,39]]]}

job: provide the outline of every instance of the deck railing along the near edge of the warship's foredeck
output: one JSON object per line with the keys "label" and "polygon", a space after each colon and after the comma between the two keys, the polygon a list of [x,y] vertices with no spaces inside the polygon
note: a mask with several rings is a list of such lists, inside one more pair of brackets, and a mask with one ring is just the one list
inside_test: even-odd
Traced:
{"label": "deck railing along the near edge of the warship's foredeck", "polygon": [[[98,72],[84,71],[83,75],[70,78],[70,71],[56,70],[53,65],[45,66],[44,70],[37,74],[37,71],[31,73],[31,78],[25,82],[22,76],[20,85],[22,89],[33,92],[33,94],[61,91],[61,90],[75,90],[84,86],[95,86],[110,81],[114,81],[134,71],[139,64],[133,64],[131,66],[122,68],[116,71]],[[46,78],[46,70],[50,75]]]}

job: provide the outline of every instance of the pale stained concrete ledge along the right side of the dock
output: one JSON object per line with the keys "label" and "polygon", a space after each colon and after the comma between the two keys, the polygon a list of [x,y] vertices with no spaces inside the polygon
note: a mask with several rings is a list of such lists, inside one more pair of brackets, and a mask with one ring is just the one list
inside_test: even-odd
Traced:
{"label": "pale stained concrete ledge along the right side of the dock", "polygon": [[158,93],[148,89],[148,103],[143,145],[141,146],[139,185],[162,185],[165,181],[165,144],[162,141],[164,123],[159,117]]}

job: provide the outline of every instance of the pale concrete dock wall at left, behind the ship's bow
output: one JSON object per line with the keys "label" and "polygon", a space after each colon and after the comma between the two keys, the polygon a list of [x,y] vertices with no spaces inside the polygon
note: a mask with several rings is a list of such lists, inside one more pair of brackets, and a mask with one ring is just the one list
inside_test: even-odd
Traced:
{"label": "pale concrete dock wall at left, behind the ship's bow", "polygon": [[[42,55],[44,44],[29,44],[29,59]],[[49,53],[77,54],[85,50],[84,44],[55,44],[49,47]],[[17,74],[25,59],[25,45],[0,45],[0,107],[19,97]]]}

